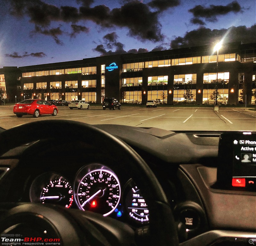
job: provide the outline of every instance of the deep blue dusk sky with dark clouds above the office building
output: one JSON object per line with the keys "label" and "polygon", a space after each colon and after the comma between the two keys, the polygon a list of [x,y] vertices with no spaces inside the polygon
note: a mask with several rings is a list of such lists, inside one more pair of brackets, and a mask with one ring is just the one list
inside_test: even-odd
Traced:
{"label": "deep blue dusk sky with dark clouds above the office building", "polygon": [[255,0],[0,0],[0,68],[256,42]]}

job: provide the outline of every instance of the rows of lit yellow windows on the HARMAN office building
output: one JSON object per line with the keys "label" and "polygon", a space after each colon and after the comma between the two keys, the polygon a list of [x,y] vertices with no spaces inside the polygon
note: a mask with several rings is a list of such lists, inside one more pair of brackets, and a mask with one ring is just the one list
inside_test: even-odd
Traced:
{"label": "rows of lit yellow windows on the HARMAN office building", "polygon": [[[24,88],[21,88],[21,90],[24,89],[24,93],[28,90],[26,94],[32,93],[32,96],[34,93],[44,90],[45,93],[51,93],[51,98],[56,99],[73,100],[78,98],[95,102],[97,92],[98,103],[103,101],[106,94],[107,96],[116,97],[120,102],[146,103],[147,99],[153,99],[163,104],[167,103],[167,94],[168,103],[172,103],[172,100],[185,100],[184,94],[186,94],[186,90],[190,90],[193,94],[193,100],[196,100],[197,93],[201,93],[197,96],[198,104],[211,104],[211,95],[217,87],[220,95],[219,102],[229,103],[229,94],[232,104],[236,104],[239,99],[234,99],[236,96],[231,97],[231,89],[235,89],[235,94],[239,94],[238,90],[244,88],[244,83],[250,88],[252,85],[252,90],[256,89],[255,71],[250,72],[252,75],[250,74],[249,77],[246,75],[248,69],[245,70],[244,68],[244,66],[248,67],[249,64],[239,65],[241,62],[256,61],[255,51],[256,49],[248,51],[240,48],[236,49],[232,44],[226,50],[221,49],[218,56],[216,53],[212,54],[212,49],[208,48],[205,50],[204,48],[184,48],[177,51],[168,50],[149,52],[148,54],[124,54],[118,56],[119,75],[118,69],[111,73],[105,70],[105,64],[113,61],[108,60],[112,59],[112,56],[106,59],[100,58],[100,64],[97,63],[98,58],[90,58],[81,60],[81,63],[80,61],[58,63],[58,65],[64,65],[61,67],[38,68],[39,65],[35,66],[36,69],[31,69],[33,66],[30,66],[28,70],[22,71],[23,77],[47,75],[54,75],[54,77],[48,76],[41,79],[47,82],[38,82],[39,78],[34,80],[31,78],[21,79],[24,83]],[[86,64],[84,61],[95,62]],[[222,62],[222,64],[219,64],[218,71],[220,72],[218,74],[216,73],[217,61]],[[227,66],[223,64],[225,62],[227,62]],[[213,64],[206,66],[205,63]],[[98,74],[96,67],[99,70]],[[248,68],[251,69],[251,67]],[[56,75],[60,75],[60,77]],[[34,83],[28,83],[30,81],[34,81]],[[106,91],[105,85],[108,82],[109,86]],[[119,90],[115,86],[118,86]]]}

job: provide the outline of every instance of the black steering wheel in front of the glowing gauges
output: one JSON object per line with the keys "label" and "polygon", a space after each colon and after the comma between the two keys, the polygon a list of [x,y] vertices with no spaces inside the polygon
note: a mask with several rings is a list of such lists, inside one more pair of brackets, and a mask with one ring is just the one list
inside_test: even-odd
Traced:
{"label": "black steering wheel in front of the glowing gauges", "polygon": [[[63,132],[70,129],[76,130],[70,136],[64,136]],[[3,131],[0,134],[0,156],[22,144],[50,138],[58,141],[82,139],[82,142],[105,149],[107,153],[115,149],[120,168],[143,190],[150,211],[149,242],[161,246],[178,245],[172,210],[154,173],[130,146],[109,133],[76,121],[35,121]],[[0,210],[6,211],[0,218],[0,234],[29,234],[36,240],[45,236],[60,238],[60,245],[65,246],[134,245],[135,234],[131,227],[93,212],[38,203],[18,203],[9,207],[0,203]]]}

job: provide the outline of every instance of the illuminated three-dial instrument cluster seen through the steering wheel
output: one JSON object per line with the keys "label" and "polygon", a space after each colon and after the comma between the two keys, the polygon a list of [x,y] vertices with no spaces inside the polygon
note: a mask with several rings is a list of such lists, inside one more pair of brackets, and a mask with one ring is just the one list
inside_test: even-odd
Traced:
{"label": "illuminated three-dial instrument cluster seen through the steering wheel", "polygon": [[93,163],[80,168],[74,180],[71,183],[56,172],[43,173],[30,186],[30,201],[92,211],[134,226],[148,224],[147,203],[132,179],[122,187],[114,171]]}

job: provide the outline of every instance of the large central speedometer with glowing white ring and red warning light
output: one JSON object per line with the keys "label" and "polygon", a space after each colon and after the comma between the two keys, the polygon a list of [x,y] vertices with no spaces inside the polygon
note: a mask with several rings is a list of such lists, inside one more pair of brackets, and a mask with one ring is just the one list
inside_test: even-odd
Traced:
{"label": "large central speedometer with glowing white ring and red warning light", "polygon": [[[107,216],[116,209],[120,201],[119,180],[114,172],[105,166],[93,170],[88,167],[83,169],[86,170],[89,171],[85,172],[76,189],[76,202],[81,210]],[[80,175],[81,171],[78,177]]]}

